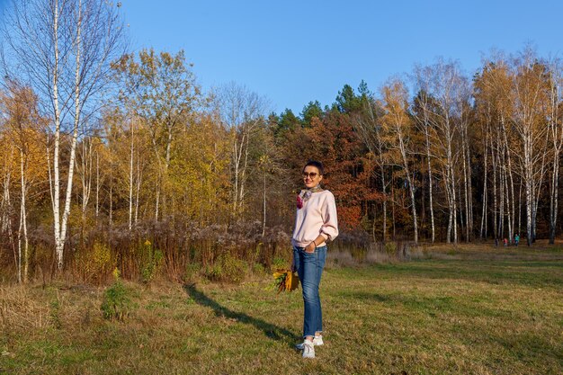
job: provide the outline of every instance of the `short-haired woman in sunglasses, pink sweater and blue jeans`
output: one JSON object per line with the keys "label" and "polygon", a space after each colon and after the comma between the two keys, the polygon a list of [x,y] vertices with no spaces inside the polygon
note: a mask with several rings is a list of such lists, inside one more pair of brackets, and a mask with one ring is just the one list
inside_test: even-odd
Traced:
{"label": "short-haired woman in sunglasses, pink sweater and blue jeans", "polygon": [[303,290],[303,358],[315,358],[315,345],[323,344],[323,313],[318,296],[318,284],[325,267],[326,242],[338,236],[335,196],[323,190],[323,165],[309,161],[303,167],[303,189],[297,197],[293,245],[293,270],[297,270]]}

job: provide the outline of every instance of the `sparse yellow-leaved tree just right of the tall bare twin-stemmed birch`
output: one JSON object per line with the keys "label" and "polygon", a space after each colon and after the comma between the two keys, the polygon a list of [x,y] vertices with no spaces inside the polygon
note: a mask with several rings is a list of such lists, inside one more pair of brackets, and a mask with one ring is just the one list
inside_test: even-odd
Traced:
{"label": "sparse yellow-leaved tree just right of the tall bare twin-stemmed birch", "polygon": [[121,82],[121,103],[125,104],[131,118],[142,120],[150,134],[158,165],[155,220],[162,216],[161,197],[174,138],[200,105],[201,90],[191,67],[191,64],[186,66],[183,50],[173,55],[143,49],[139,58],[128,54],[113,64]]}

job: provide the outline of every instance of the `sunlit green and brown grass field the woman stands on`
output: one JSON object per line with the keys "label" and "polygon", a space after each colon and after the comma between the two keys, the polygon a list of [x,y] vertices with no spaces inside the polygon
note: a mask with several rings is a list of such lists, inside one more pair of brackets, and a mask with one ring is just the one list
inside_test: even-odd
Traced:
{"label": "sunlit green and brown grass field the woman stands on", "polygon": [[433,246],[407,263],[327,267],[325,345],[302,360],[300,290],[128,283],[0,289],[4,374],[560,374],[563,250]]}

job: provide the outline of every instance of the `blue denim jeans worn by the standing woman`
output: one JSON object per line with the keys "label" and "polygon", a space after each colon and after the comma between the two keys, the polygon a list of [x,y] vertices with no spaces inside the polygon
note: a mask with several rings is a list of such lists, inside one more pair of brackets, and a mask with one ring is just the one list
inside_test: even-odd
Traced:
{"label": "blue denim jeans worn by the standing woman", "polygon": [[326,246],[317,247],[314,253],[293,246],[293,265],[301,281],[305,312],[303,314],[303,337],[314,336],[323,330],[323,310],[320,306],[318,285],[326,261]]}

